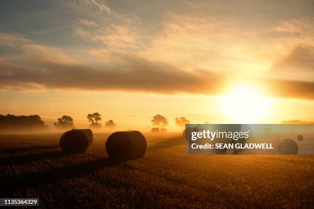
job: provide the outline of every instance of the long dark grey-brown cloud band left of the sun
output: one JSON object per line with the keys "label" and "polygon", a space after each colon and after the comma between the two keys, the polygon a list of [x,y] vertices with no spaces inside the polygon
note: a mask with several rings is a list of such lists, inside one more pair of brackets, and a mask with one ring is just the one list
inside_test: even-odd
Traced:
{"label": "long dark grey-brown cloud band left of the sun", "polygon": [[191,74],[140,57],[124,56],[123,59],[124,63],[108,69],[55,62],[42,62],[40,69],[0,65],[0,88],[217,94],[224,82],[205,71]]}

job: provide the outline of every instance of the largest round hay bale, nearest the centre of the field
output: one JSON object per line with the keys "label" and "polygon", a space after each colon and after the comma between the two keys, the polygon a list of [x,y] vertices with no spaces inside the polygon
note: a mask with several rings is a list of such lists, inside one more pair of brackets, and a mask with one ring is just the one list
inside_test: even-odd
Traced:
{"label": "largest round hay bale, nearest the centre of the field", "polygon": [[113,159],[143,157],[146,148],[146,139],[139,131],[114,132],[106,141],[107,153]]}

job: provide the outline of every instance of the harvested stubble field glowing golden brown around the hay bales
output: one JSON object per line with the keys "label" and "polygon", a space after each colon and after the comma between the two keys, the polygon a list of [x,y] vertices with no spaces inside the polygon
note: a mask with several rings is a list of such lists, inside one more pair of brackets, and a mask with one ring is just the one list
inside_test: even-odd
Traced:
{"label": "harvested stubble field glowing golden brown around the hay bales", "polygon": [[[145,135],[145,134],[144,134]],[[186,155],[179,134],[146,134],[144,158],[112,162],[108,134],[64,154],[61,134],[1,135],[1,197],[47,207],[312,208],[314,156]]]}

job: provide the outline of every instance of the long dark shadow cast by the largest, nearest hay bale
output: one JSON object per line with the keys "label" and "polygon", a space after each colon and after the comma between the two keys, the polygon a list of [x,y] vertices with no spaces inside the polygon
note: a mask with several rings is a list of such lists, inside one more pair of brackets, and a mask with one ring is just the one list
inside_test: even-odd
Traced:
{"label": "long dark shadow cast by the largest, nearest hay bale", "polygon": [[67,178],[90,175],[96,171],[115,165],[117,165],[117,163],[113,162],[109,158],[103,158],[44,172],[32,172],[17,176],[1,177],[0,185],[6,189],[0,191],[0,196],[13,197],[14,192],[17,190],[25,190],[26,187],[35,188],[42,185],[52,184]]}

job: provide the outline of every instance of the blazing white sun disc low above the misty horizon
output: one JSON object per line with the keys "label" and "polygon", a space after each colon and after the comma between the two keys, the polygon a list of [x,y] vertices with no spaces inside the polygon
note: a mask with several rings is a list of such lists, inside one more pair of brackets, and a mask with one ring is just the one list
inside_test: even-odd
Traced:
{"label": "blazing white sun disc low above the misty horizon", "polygon": [[221,97],[223,112],[234,122],[258,123],[269,113],[270,98],[261,96],[251,87],[239,87]]}

